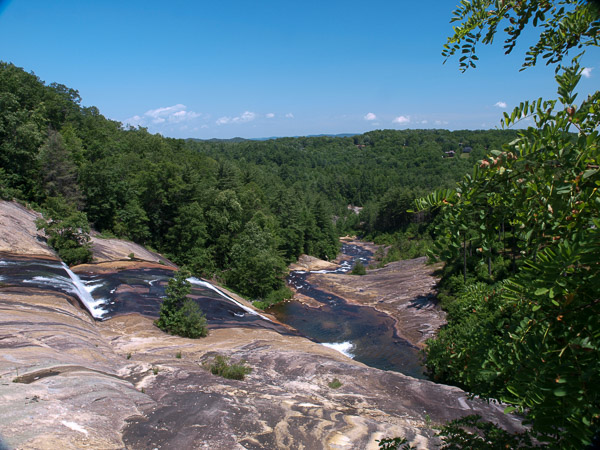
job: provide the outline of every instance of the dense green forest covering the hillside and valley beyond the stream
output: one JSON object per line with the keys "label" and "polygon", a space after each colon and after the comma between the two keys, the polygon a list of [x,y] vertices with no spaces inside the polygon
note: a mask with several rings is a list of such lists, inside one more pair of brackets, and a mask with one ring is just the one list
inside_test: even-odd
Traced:
{"label": "dense green forest covering the hillside and valley beyond the stream", "polygon": [[[89,256],[89,222],[252,298],[281,296],[286,266],[302,253],[334,258],[341,234],[405,227],[414,198],[451,186],[515,137],[384,130],[170,139],[124,128],[82,106],[76,90],[0,64],[0,192],[46,212],[50,243],[65,260]],[[364,207],[361,216],[348,205]]]}

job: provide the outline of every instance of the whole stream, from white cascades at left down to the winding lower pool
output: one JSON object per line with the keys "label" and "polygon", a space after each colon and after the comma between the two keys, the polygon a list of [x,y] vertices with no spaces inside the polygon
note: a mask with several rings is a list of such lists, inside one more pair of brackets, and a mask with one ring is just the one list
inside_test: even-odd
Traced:
{"label": "whole stream, from white cascades at left down to the winding lower pool", "polygon": [[[348,257],[340,267],[313,273],[343,274],[357,261],[365,266],[371,252],[359,246],[344,244]],[[293,301],[269,310],[278,320],[317,342],[335,348],[364,364],[424,378],[418,349],[395,332],[394,320],[373,308],[347,303],[343,298],[321,291],[307,279],[310,273],[292,272],[288,282],[296,290],[318,301],[311,308]],[[173,272],[160,268],[137,268],[114,273],[73,273],[59,261],[28,258],[0,260],[0,283],[25,288],[53,290],[78,298],[97,320],[121,314],[140,313],[158,317],[165,288]],[[190,278],[192,295],[212,327],[243,326],[268,328],[283,334],[294,334],[237,302],[207,281]]]}

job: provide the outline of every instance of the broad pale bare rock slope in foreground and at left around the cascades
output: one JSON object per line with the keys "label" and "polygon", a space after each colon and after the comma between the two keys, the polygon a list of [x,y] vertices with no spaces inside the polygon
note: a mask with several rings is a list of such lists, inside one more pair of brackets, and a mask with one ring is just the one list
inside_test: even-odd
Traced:
{"label": "broad pale bare rock slope in foreground and at left around the cascades", "polygon": [[[35,217],[0,202],[0,252],[55,258]],[[129,253],[136,267],[164,260],[96,239],[95,257],[110,270],[131,267]],[[356,301],[381,303],[365,287]],[[301,336],[231,326],[185,339],[137,313],[99,322],[73,295],[18,283],[0,284],[0,346],[0,448],[369,449],[403,435],[426,449],[438,443],[433,425],[466,414],[519,426],[460,389],[370,368]],[[242,381],[212,375],[203,364],[217,354],[252,372]]]}

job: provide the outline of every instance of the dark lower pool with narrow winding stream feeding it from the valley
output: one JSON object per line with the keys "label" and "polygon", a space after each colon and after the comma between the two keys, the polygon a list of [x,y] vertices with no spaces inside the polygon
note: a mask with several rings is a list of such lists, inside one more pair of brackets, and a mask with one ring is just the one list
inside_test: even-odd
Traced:
{"label": "dark lower pool with narrow winding stream feeding it from the valley", "polygon": [[[368,250],[348,244],[342,246],[342,253],[350,258],[338,269],[312,273],[347,273],[357,261],[368,265],[373,256]],[[419,350],[397,335],[394,319],[373,308],[349,304],[341,297],[315,288],[307,281],[309,275],[305,271],[292,272],[288,283],[298,293],[318,301],[321,304],[319,308],[292,301],[276,305],[269,312],[302,334],[368,366],[425,378]]]}

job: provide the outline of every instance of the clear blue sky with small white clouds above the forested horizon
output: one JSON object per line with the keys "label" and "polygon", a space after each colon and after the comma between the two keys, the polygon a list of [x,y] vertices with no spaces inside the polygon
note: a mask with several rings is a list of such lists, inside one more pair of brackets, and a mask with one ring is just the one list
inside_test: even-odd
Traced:
{"label": "clear blue sky with small white clouds above the forested horizon", "polygon": [[[444,65],[457,2],[0,0],[0,60],[171,137],[488,129],[555,97],[552,69],[519,72],[524,43],[481,46],[464,74]],[[583,63],[587,94],[600,52]]]}

